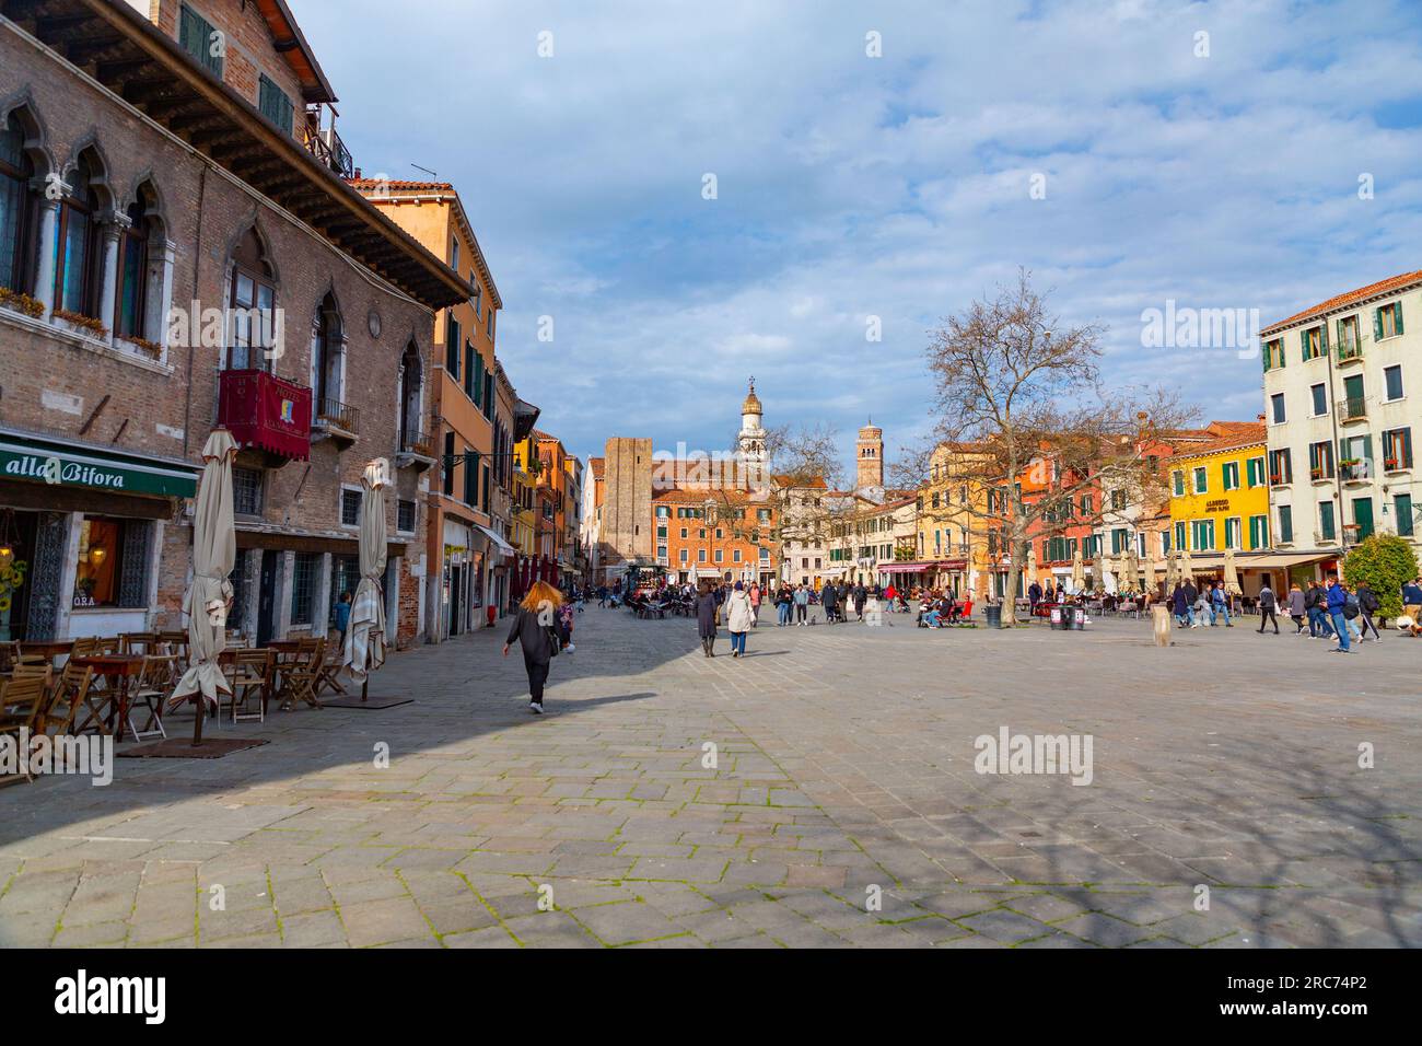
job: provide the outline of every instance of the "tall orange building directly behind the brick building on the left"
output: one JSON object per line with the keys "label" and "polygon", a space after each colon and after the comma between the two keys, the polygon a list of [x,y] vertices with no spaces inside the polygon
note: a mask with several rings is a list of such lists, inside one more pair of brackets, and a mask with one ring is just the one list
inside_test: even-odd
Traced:
{"label": "tall orange building directly behind the brick building on the left", "polygon": [[361,178],[351,185],[387,218],[466,276],[474,297],[435,313],[434,350],[419,361],[432,376],[428,414],[404,424],[401,450],[432,454],[437,467],[427,494],[427,639],[439,642],[483,623],[483,608],[498,598],[495,566],[512,556],[506,527],[493,517],[498,458],[512,437],[495,445],[498,413],[493,356],[495,313],[503,307],[489,265],[474,235],[459,194],[449,182]]}

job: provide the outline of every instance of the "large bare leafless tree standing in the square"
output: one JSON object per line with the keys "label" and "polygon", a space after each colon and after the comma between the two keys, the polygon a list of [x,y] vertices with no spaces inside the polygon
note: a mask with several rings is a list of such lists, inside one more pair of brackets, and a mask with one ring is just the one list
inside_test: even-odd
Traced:
{"label": "large bare leafless tree standing in the square", "polygon": [[[933,445],[912,453],[906,467],[917,468],[923,484],[936,463],[937,478],[947,470],[967,487],[970,497],[926,514],[968,514],[995,534],[1011,554],[1008,593],[1034,535],[1101,521],[1101,490],[1121,490],[1135,504],[1158,501],[1159,457],[1194,417],[1165,391],[1103,390],[1102,333],[1096,324],[1062,324],[1025,270],[933,332],[937,424]],[[1098,497],[1084,509],[1088,492]],[[1003,620],[1014,622],[1011,598]]]}

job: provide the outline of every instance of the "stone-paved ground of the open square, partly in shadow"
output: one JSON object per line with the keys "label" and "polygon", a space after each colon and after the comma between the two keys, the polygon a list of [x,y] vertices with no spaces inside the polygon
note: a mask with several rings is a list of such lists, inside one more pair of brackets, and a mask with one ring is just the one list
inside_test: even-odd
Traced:
{"label": "stone-paved ground of the open square, partly in shadow", "polygon": [[[0,790],[0,944],[1422,944],[1422,640],[577,620],[542,719],[485,630],[391,657],[414,704]],[[1091,783],[977,773],[1003,727]]]}

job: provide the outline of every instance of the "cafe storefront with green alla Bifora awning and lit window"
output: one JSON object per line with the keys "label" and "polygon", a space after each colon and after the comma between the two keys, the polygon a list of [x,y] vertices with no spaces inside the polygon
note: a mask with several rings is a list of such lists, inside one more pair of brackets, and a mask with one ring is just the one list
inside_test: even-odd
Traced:
{"label": "cafe storefront with green alla Bifora awning and lit window", "polygon": [[0,642],[154,628],[196,465],[0,428]]}

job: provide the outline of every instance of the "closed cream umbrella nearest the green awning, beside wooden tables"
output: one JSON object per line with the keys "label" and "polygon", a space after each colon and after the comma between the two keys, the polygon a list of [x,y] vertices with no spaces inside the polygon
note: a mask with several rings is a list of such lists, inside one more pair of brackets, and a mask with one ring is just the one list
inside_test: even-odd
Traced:
{"label": "closed cream umbrella nearest the green awning, beside wooden tables", "polygon": [[[202,480],[198,484],[192,521],[192,585],[183,601],[188,615],[189,667],[178,680],[169,707],[178,707],[189,697],[218,704],[219,693],[232,693],[219,655],[228,646],[228,606],[232,603],[232,582],[228,575],[237,559],[237,532],[232,522],[232,458],[237,441],[226,428],[215,428],[202,448]],[[199,707],[193,724],[193,744],[202,741]]]}

